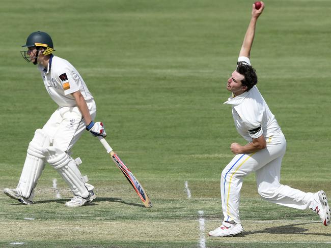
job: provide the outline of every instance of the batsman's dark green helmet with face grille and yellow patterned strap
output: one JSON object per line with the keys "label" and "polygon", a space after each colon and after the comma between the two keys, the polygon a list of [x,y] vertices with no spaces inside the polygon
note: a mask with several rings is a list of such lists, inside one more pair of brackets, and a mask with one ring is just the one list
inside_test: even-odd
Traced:
{"label": "batsman's dark green helmet with face grille and yellow patterned strap", "polygon": [[[23,45],[22,47],[44,47],[45,50],[42,52],[44,55],[49,55],[53,51],[55,51],[52,38],[50,38],[47,33],[41,31],[33,32],[32,34],[30,34],[29,37],[27,37],[26,39],[25,45]],[[27,51],[21,51],[21,54],[26,61],[31,61],[30,57],[26,56]],[[36,65],[37,60],[34,60],[34,64]]]}

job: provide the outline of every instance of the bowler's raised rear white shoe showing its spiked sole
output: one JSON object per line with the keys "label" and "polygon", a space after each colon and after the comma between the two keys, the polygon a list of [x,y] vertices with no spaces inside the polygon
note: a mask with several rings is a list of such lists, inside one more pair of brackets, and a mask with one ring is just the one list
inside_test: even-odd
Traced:
{"label": "bowler's raised rear white shoe showing its spiked sole", "polygon": [[324,226],[328,226],[330,224],[330,208],[327,203],[325,192],[320,190],[314,194],[313,198],[314,203],[312,210],[318,213]]}

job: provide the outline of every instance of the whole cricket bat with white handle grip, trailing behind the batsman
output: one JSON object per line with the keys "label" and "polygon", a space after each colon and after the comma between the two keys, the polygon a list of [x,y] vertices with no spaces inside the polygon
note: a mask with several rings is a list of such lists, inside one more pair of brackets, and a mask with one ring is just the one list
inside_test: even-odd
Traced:
{"label": "whole cricket bat with white handle grip, trailing behind the batsman", "polygon": [[117,167],[122,171],[126,179],[130,182],[135,192],[139,195],[140,199],[144,203],[145,207],[152,207],[152,203],[146,194],[146,191],[144,190],[142,184],[136,179],[136,177],[132,174],[132,172],[129,170],[129,168],[126,167],[126,165],[123,163],[123,161],[118,157],[116,152],[113,150],[113,148],[108,144],[108,142],[101,136],[98,136],[101,144],[106,149],[107,153],[111,156],[114,163],[117,165]]}

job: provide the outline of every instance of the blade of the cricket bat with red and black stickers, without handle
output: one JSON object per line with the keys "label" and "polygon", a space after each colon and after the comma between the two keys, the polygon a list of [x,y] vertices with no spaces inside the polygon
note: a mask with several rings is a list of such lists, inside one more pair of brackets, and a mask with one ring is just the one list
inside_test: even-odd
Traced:
{"label": "blade of the cricket bat with red and black stickers, without handle", "polygon": [[130,182],[133,189],[139,195],[140,199],[143,201],[145,207],[152,207],[152,203],[149,200],[148,195],[145,193],[143,186],[139,183],[139,181],[135,178],[129,168],[122,162],[122,160],[118,157],[118,155],[113,151],[109,153],[114,160],[115,164],[120,168],[126,179]]}

